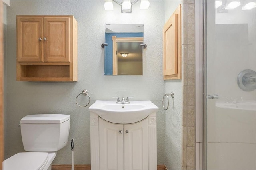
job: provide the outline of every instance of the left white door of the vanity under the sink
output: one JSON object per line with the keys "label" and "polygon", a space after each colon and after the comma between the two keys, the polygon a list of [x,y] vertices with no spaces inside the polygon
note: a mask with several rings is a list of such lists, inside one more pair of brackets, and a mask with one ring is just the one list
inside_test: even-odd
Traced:
{"label": "left white door of the vanity under the sink", "polygon": [[99,118],[100,170],[124,169],[124,126]]}

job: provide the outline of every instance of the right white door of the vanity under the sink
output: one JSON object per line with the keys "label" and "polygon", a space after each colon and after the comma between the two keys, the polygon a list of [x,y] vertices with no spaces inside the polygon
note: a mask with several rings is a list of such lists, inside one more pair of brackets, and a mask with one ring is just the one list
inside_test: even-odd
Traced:
{"label": "right white door of the vanity under the sink", "polygon": [[148,170],[148,118],[124,125],[124,170]]}

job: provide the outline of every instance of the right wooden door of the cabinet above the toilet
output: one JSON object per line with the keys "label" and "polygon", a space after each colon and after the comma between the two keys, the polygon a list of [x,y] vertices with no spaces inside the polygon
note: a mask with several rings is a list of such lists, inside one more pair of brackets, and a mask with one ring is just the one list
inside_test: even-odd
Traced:
{"label": "right wooden door of the cabinet above the toilet", "polygon": [[44,18],[44,62],[70,62],[70,18]]}

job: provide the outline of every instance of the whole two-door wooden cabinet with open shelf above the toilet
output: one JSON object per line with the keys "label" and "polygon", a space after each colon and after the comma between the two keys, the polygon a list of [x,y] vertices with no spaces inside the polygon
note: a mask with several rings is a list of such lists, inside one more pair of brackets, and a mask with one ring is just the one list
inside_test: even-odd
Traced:
{"label": "whole two-door wooden cabinet with open shelf above the toilet", "polygon": [[77,81],[74,16],[16,16],[17,81]]}

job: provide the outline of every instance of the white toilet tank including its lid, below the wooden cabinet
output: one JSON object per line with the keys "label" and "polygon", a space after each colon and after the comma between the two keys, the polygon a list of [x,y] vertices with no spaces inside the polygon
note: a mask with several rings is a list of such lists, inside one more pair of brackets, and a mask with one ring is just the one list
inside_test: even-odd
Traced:
{"label": "white toilet tank including its lid, below the wooden cabinet", "polygon": [[27,115],[20,120],[24,149],[29,152],[54,152],[68,143],[70,115]]}

